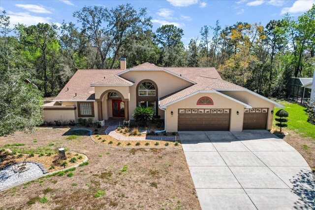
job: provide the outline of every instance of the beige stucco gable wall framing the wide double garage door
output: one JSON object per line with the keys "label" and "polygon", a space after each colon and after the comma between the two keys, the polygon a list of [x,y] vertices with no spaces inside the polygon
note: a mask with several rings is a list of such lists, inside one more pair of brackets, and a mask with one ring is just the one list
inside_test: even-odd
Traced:
{"label": "beige stucco gable wall framing the wide double garage door", "polygon": [[[213,100],[213,105],[197,105],[199,98],[208,96]],[[178,109],[230,109],[230,131],[242,131],[244,118],[244,105],[217,93],[198,93],[189,98],[178,101],[166,107],[166,132],[176,132],[178,128]],[[173,116],[171,112],[173,111]],[[239,115],[237,115],[239,111]]]}

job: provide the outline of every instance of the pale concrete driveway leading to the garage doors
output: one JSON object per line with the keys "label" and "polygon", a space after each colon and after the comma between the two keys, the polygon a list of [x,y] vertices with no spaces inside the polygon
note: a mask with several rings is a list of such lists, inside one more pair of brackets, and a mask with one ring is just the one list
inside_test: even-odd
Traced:
{"label": "pale concrete driveway leading to the garage doors", "polygon": [[315,209],[315,177],[264,130],[179,132],[203,210]]}

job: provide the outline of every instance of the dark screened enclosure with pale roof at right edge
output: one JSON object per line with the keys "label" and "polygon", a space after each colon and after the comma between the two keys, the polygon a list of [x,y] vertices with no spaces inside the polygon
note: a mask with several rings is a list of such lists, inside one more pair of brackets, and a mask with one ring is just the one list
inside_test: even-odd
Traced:
{"label": "dark screened enclosure with pale roof at right edge", "polygon": [[306,102],[311,97],[313,78],[290,78],[286,85],[286,97],[299,103]]}

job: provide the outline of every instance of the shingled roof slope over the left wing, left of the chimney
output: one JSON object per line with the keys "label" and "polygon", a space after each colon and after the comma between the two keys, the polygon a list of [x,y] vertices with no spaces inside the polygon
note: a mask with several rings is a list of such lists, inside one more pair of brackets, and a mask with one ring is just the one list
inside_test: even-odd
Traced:
{"label": "shingled roof slope over the left wing, left of the chimney", "polygon": [[90,85],[104,79],[104,77],[113,77],[122,71],[121,69],[77,70],[55,100],[95,100],[94,87]]}

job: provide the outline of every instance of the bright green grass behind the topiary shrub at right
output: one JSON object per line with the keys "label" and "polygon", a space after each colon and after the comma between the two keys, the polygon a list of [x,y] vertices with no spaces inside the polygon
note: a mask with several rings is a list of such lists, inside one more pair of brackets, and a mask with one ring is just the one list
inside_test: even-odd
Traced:
{"label": "bright green grass behind the topiary shrub at right", "polygon": [[[302,137],[311,137],[315,141],[315,125],[308,122],[308,115],[306,114],[306,108],[301,106],[298,103],[289,102],[285,100],[277,100],[278,103],[285,106],[284,110],[289,113],[289,117],[287,118],[289,121],[287,122],[287,127],[284,130],[293,130],[297,134]],[[275,108],[275,114],[280,108]],[[276,115],[274,115],[273,128],[279,129],[276,126],[275,121]]]}

